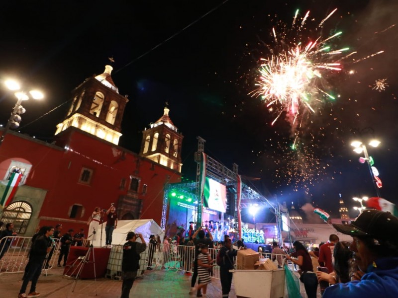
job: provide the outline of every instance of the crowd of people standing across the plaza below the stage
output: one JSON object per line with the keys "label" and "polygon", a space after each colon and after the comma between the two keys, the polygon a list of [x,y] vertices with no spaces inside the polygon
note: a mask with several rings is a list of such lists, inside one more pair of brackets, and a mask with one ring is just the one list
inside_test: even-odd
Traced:
{"label": "crowd of people standing across the plaza below the stage", "polygon": [[[107,215],[112,213],[113,206],[109,208]],[[113,224],[117,224],[117,217]],[[308,298],[316,298],[318,290],[323,298],[362,298],[364,295],[398,297],[398,238],[394,232],[398,230],[398,218],[383,211],[366,209],[351,224],[333,226],[338,232],[352,236],[352,242],[340,241],[336,234],[331,234],[326,243],[312,250],[308,250],[299,241],[293,243],[293,250],[274,242],[272,260],[278,264],[278,268],[284,268],[287,261],[293,264]],[[71,245],[83,245],[83,228],[77,233],[69,229],[64,234],[62,229],[62,224],[57,224],[55,228],[43,226],[32,237],[18,298],[40,295],[36,292],[36,283],[41,269],[48,268],[55,250],[55,242],[61,243],[58,266],[61,266],[62,260],[65,266]],[[6,224],[0,234],[0,258],[8,249],[9,240],[15,235],[13,224]],[[137,242],[137,239],[140,241]],[[126,241],[123,245],[121,298],[128,297],[140,268],[140,253],[147,247],[141,234],[129,232]],[[193,272],[190,294],[196,294],[197,297],[206,297],[207,285],[212,281],[212,268],[216,265],[216,259],[222,297],[228,297],[232,283],[232,273],[229,271],[234,269],[234,258],[238,250],[245,249],[242,240],[232,243],[228,235],[224,235],[223,241],[216,241],[207,227],[199,227],[189,238],[180,237],[178,234],[173,237],[165,235],[162,241],[159,235],[150,235],[149,244],[147,270],[152,270],[155,254],[162,256],[162,268],[168,266],[166,262],[171,260],[171,255],[179,256],[187,275]],[[218,248],[219,253],[215,255],[215,250],[211,250],[210,253],[209,248]],[[31,287],[26,296],[29,282]]]}

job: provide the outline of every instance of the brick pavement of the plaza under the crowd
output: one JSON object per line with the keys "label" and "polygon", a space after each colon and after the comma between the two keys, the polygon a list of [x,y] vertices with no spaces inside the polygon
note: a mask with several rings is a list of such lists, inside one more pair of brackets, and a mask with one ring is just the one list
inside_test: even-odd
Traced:
{"label": "brick pavement of the plaza under the crowd", "polygon": [[[21,286],[21,273],[0,274],[0,297],[16,298]],[[75,286],[74,292],[72,288]],[[29,290],[30,284],[27,290]],[[189,295],[191,287],[191,276],[182,271],[160,270],[145,271],[142,279],[134,282],[130,297],[137,298],[194,298]],[[63,269],[52,268],[48,275],[40,276],[36,291],[43,298],[119,298],[121,293],[121,282],[105,278],[95,280],[78,280],[63,276]],[[96,295],[97,292],[97,295]],[[213,279],[207,286],[208,298],[221,297],[220,281]],[[232,290],[230,298],[236,298]]]}

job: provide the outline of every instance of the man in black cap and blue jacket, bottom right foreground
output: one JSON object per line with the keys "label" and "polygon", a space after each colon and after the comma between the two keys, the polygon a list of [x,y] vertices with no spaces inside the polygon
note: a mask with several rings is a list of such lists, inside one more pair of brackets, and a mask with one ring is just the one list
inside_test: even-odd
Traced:
{"label": "man in black cap and blue jacket, bottom right foreground", "polygon": [[351,224],[333,226],[353,237],[350,250],[359,270],[351,282],[326,288],[323,298],[398,297],[398,218],[366,209]]}

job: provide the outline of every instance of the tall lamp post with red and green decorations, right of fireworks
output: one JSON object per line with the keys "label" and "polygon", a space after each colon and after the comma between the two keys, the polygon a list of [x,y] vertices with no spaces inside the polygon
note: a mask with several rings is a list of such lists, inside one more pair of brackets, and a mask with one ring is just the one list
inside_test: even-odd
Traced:
{"label": "tall lamp post with red and green decorations, right of fireworks", "polygon": [[[382,180],[379,178],[379,171],[377,168],[374,166],[374,160],[372,156],[369,156],[368,154],[368,149],[366,148],[365,142],[363,135],[366,133],[371,133],[373,135],[374,130],[370,127],[365,128],[363,130],[358,130],[358,129],[353,129],[351,132],[354,135],[359,135],[359,139],[351,142],[351,146],[354,147],[354,152],[356,153],[364,153],[365,157],[360,157],[359,162],[360,163],[367,163],[370,171],[370,175],[372,177],[373,185],[375,186],[376,194],[380,198],[380,188],[382,187]],[[369,142],[367,142],[369,146],[371,147],[378,147],[380,145],[380,141],[376,139],[370,139]]]}

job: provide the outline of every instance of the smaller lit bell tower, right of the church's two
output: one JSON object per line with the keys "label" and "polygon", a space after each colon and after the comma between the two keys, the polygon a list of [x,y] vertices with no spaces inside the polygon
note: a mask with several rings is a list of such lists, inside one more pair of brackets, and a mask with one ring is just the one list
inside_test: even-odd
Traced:
{"label": "smaller lit bell tower, right of the church's two", "polygon": [[169,108],[163,116],[142,134],[140,155],[181,173],[181,147],[184,136],[169,117]]}

